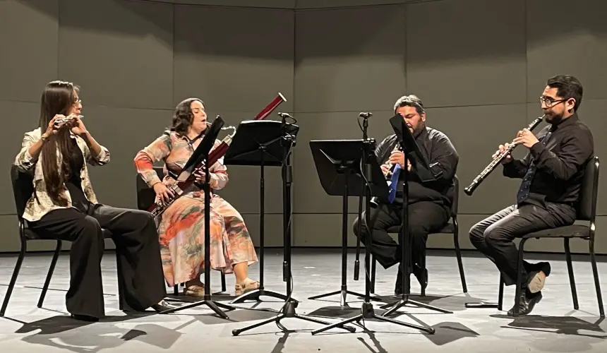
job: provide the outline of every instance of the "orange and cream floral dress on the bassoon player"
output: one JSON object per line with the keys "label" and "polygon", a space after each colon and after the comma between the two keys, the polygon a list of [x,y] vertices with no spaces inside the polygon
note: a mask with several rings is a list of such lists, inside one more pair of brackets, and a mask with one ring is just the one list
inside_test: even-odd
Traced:
{"label": "orange and cream floral dress on the bassoon player", "polygon": [[[199,142],[200,140],[198,140]],[[215,146],[220,144],[215,141]],[[165,132],[135,157],[137,172],[152,187],[158,182],[170,184],[168,171],[179,175],[197,144],[187,136]],[[153,164],[164,161],[161,181]],[[228,181],[223,159],[210,168],[211,193],[223,189]],[[205,265],[205,198],[194,188],[186,191],[162,214],[158,233],[164,278],[169,286],[197,279]],[[252,265],[258,261],[251,235],[240,213],[227,201],[212,193],[210,201],[210,264],[214,270],[232,273],[236,263]]]}

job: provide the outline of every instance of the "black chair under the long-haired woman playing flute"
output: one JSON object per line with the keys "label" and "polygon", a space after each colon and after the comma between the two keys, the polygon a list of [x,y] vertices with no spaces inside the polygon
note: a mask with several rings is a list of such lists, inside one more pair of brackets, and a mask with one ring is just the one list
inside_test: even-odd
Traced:
{"label": "black chair under the long-haired woman playing flute", "polygon": [[[17,282],[17,277],[19,275],[19,270],[21,269],[21,264],[23,263],[23,258],[25,257],[25,252],[28,251],[28,241],[32,240],[52,240],[56,241],[57,246],[55,247],[53,258],[51,260],[51,266],[49,268],[49,273],[47,273],[47,279],[44,280],[44,286],[42,286],[42,293],[40,294],[40,299],[38,299],[38,307],[42,308],[42,303],[44,302],[44,297],[47,295],[47,290],[49,289],[49,284],[51,282],[51,277],[53,275],[53,271],[55,269],[55,265],[57,263],[57,259],[59,258],[59,251],[61,251],[61,240],[56,239],[48,239],[41,237],[40,234],[37,234],[32,229],[30,229],[27,225],[27,221],[23,220],[23,212],[25,211],[25,205],[28,203],[30,197],[34,193],[33,186],[33,176],[32,174],[20,172],[20,170],[13,164],[11,166],[11,181],[13,184],[13,195],[15,196],[15,205],[17,208],[17,218],[19,221],[19,239],[21,241],[21,249],[19,252],[19,257],[17,258],[17,263],[15,265],[15,270],[13,270],[13,277],[11,277],[11,282],[8,285],[8,289],[6,290],[6,295],[4,296],[4,302],[2,303],[2,309],[0,309],[0,316],[4,316],[6,312],[6,306],[8,306],[8,301],[11,299],[11,294],[13,294],[13,288],[15,287],[15,283]],[[111,238],[112,233],[110,233],[107,229],[103,229],[104,238]],[[120,265],[120,264],[119,264]],[[119,295],[122,293],[122,289],[119,287]]]}

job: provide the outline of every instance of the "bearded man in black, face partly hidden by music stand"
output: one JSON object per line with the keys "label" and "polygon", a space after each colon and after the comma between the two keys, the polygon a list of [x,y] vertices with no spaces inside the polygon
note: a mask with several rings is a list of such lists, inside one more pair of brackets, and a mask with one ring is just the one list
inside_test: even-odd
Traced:
{"label": "bearded man in black, face partly hidden by music stand", "polygon": [[[421,100],[415,95],[399,98],[394,105],[395,114],[403,116],[405,124],[419,145],[423,157],[428,161],[435,181],[423,182],[416,172],[416,161],[409,157],[407,161],[407,182],[409,184],[409,235],[412,239],[411,272],[421,287],[428,285],[428,271],[423,265],[428,234],[442,228],[449,220],[450,207],[455,187],[453,184],[459,157],[447,136],[434,128],[426,126],[426,112]],[[387,136],[375,149],[375,157],[382,165],[387,177],[399,180],[393,200],[379,201],[376,208],[371,208],[371,224],[362,224],[361,241],[364,244],[371,230],[371,253],[384,268],[390,268],[401,261],[401,249],[386,232],[387,229],[402,225],[402,179],[405,168],[404,153],[397,150],[396,135]],[[363,220],[365,215],[362,215]],[[358,232],[358,222],[354,222],[354,232]],[[396,281],[395,295],[402,294],[402,275]]]}

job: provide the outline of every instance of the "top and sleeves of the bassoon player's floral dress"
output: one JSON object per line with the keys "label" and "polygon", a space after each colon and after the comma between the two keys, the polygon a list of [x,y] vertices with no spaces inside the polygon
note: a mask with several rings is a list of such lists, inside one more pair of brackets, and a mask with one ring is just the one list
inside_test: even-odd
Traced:
{"label": "top and sleeves of the bassoon player's floral dress", "polygon": [[[215,140],[215,145],[211,150],[217,148],[220,143],[220,140]],[[153,164],[162,160],[164,161],[164,181],[171,183],[174,182],[174,179],[169,177],[167,169],[179,175],[196,147],[191,144],[187,136],[181,136],[174,131],[166,131],[148,147],[137,153],[134,160],[135,167],[151,188],[154,184],[161,182],[153,169]],[[223,165],[223,157],[209,167],[209,174],[211,189],[220,190],[226,186],[228,174],[227,167]],[[198,193],[196,196],[199,196]]]}

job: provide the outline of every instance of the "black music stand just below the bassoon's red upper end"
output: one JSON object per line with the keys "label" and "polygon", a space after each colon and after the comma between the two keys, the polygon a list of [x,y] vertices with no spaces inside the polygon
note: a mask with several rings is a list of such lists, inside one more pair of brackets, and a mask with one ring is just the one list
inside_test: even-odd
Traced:
{"label": "black music stand just below the bassoon's red upper end", "polygon": [[[299,127],[298,127],[299,128]],[[260,167],[259,177],[259,288],[234,298],[230,304],[244,303],[248,299],[259,301],[259,297],[273,297],[287,300],[287,295],[266,290],[263,286],[264,239],[265,239],[265,179],[266,166],[281,167],[289,150],[282,145],[280,121],[242,121],[224,157],[226,165],[253,165]]]}

